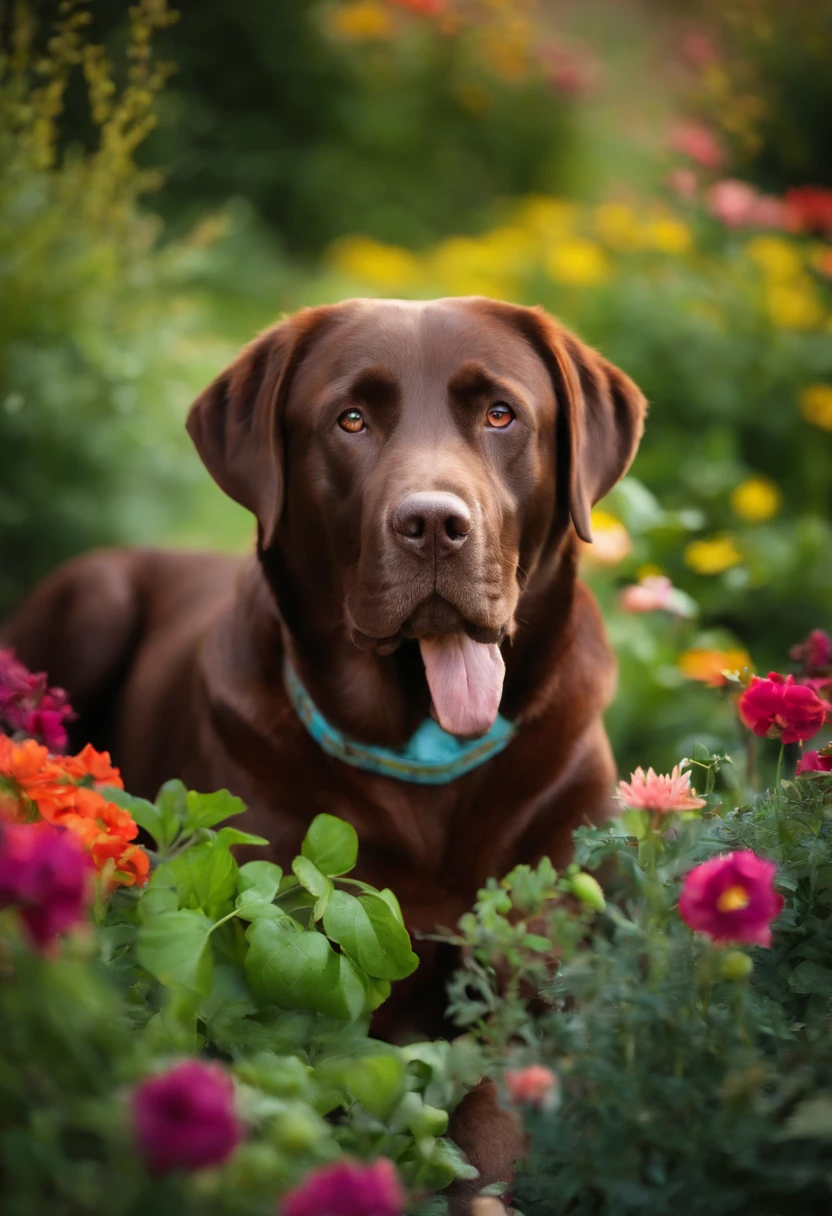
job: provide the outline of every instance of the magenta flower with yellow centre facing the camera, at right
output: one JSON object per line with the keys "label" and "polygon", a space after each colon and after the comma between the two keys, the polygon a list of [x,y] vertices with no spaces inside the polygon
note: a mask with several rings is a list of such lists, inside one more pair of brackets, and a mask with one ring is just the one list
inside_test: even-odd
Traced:
{"label": "magenta flower with yellow centre facing the camera, at right", "polygon": [[771,945],[771,922],[783,897],[774,889],[777,867],[751,849],[712,857],[685,876],[679,913],[712,941]]}

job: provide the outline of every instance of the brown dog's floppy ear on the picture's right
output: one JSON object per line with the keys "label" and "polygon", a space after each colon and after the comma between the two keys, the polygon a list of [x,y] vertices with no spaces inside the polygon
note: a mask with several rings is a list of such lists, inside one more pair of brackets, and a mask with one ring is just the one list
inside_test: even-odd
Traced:
{"label": "brown dog's floppy ear on the picture's right", "polygon": [[592,540],[594,505],[633,463],[647,401],[629,376],[564,330],[541,308],[513,321],[546,364],[558,405],[558,469],[581,540]]}

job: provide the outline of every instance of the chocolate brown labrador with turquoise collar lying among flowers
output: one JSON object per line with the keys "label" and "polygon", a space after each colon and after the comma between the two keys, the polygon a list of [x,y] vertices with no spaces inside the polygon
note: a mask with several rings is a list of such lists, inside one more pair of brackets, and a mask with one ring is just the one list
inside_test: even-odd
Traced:
{"label": "chocolate brown labrador with turquoise collar lying among flowers", "polygon": [[[558,865],[611,807],[614,666],[575,562],[643,415],[540,309],[307,309],[189,416],[257,553],[90,553],[2,638],[131,792],[226,787],[281,861],[315,814],[343,816],[409,928],[451,925],[490,874]],[[443,961],[420,948],[382,1034],[439,1029]]]}

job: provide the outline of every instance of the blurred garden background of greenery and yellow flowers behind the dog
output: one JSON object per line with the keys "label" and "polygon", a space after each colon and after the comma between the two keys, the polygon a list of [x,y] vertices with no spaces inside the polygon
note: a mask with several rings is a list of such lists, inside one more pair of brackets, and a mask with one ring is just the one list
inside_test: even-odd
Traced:
{"label": "blurred garden background of greenery and yellow flowers behind the dog", "polygon": [[540,303],[651,401],[584,563],[620,766],[738,745],[708,680],[832,618],[828,0],[30,0],[0,46],[0,608],[251,544],[182,421],[281,313]]}

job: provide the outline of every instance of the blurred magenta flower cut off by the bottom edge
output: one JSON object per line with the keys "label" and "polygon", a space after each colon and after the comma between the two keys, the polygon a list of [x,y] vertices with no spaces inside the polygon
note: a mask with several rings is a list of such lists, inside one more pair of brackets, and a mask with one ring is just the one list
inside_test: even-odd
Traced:
{"label": "blurred magenta flower cut off by the bottom edge", "polygon": [[401,1216],[405,1195],[386,1156],[370,1165],[337,1161],[308,1173],[283,1197],[281,1216]]}

